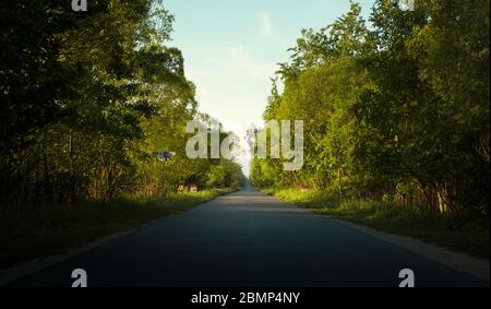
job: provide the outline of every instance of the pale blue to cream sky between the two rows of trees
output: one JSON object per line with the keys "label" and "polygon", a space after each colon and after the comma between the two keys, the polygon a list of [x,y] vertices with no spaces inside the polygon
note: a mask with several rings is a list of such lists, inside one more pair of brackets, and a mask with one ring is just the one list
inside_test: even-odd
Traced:
{"label": "pale blue to cream sky between the two rows of trees", "polygon": [[[361,0],[368,17],[374,0]],[[261,126],[277,63],[289,58],[302,28],[319,29],[349,10],[349,0],[167,0],[175,15],[170,46],[181,49],[200,111],[246,144]],[[238,159],[249,175],[248,152]]]}

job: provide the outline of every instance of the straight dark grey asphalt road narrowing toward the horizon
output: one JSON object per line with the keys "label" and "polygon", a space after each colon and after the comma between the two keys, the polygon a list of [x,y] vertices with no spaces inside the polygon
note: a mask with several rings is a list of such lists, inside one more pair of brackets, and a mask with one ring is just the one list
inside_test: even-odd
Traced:
{"label": "straight dark grey asphalt road narrowing toward the horizon", "polygon": [[489,286],[400,247],[250,190],[113,240],[13,286]]}

